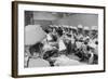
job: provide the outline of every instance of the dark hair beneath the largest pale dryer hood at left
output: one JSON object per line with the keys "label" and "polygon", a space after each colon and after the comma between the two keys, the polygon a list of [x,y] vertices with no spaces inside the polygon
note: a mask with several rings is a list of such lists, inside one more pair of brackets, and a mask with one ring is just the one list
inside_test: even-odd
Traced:
{"label": "dark hair beneath the largest pale dryer hood at left", "polygon": [[41,48],[43,47],[42,43],[38,42],[29,48],[29,52],[32,55],[35,52],[40,53]]}

